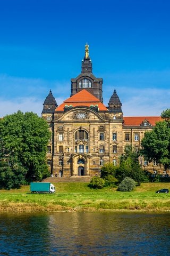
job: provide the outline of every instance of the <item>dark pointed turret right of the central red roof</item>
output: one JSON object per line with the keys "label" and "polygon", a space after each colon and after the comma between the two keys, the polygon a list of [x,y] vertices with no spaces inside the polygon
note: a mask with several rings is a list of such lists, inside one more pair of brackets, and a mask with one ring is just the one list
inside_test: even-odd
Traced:
{"label": "dark pointed turret right of the central red roof", "polygon": [[114,93],[108,102],[108,110],[110,113],[123,114],[122,113],[122,103],[117,96],[116,90],[114,90]]}

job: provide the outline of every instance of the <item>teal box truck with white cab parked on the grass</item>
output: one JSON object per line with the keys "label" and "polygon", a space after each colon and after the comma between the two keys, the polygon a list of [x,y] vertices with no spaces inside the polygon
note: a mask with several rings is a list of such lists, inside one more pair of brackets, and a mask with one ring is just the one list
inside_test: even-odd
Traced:
{"label": "teal box truck with white cab parked on the grass", "polygon": [[55,193],[55,187],[50,182],[31,182],[30,183],[31,193]]}

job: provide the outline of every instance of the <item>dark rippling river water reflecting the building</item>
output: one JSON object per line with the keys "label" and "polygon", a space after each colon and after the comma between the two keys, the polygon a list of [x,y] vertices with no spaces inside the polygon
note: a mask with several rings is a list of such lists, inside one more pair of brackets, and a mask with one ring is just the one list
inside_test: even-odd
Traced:
{"label": "dark rippling river water reflecting the building", "polygon": [[0,214],[0,255],[170,255],[169,213]]}

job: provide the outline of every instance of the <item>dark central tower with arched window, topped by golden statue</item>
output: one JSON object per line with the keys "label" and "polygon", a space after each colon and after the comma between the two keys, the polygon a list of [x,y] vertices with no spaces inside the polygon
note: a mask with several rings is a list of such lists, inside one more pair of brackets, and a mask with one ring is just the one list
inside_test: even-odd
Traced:
{"label": "dark central tower with arched window, topped by golden statue", "polygon": [[71,97],[86,89],[88,92],[93,94],[101,102],[103,102],[103,79],[97,78],[92,74],[92,62],[89,57],[89,45],[85,45],[85,55],[81,62],[81,74],[71,79]]}

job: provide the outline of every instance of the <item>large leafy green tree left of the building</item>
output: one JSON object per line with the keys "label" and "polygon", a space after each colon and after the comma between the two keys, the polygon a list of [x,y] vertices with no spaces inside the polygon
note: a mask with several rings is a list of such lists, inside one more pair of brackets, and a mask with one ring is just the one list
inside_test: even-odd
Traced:
{"label": "large leafy green tree left of the building", "polygon": [[[32,177],[41,180],[49,175],[46,151],[50,132],[43,118],[21,111],[7,115],[0,121],[0,136],[0,161],[10,163],[14,175],[16,165],[20,166],[21,172],[22,168],[25,170],[28,180]],[[2,179],[0,183],[3,183]]]}

